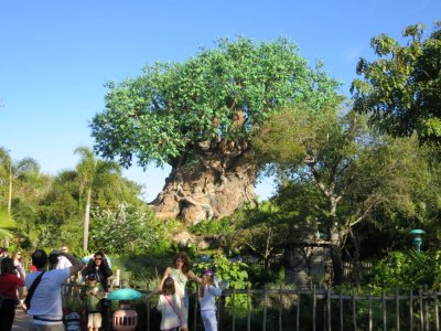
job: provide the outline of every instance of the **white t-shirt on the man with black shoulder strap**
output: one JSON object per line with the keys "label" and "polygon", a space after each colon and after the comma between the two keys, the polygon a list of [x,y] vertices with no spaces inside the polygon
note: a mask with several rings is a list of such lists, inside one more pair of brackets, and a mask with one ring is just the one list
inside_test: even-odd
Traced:
{"label": "white t-shirt on the man with black shoulder strap", "polygon": [[[31,273],[26,277],[26,288],[29,289],[34,279],[41,274],[41,271]],[[35,288],[34,295],[31,299],[31,309],[28,310],[28,314],[31,317],[39,317],[51,321],[41,321],[33,319],[35,324],[54,324],[61,323],[56,320],[62,320],[63,308],[62,308],[62,291],[61,287],[63,282],[71,275],[71,269],[54,269],[46,271],[37,287]]]}

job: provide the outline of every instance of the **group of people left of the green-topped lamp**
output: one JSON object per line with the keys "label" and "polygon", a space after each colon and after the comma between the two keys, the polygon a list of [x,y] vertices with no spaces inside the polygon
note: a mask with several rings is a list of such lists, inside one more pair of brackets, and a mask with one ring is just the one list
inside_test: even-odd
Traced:
{"label": "group of people left of the green-topped lamp", "polygon": [[[21,252],[13,253],[11,257],[7,248],[0,248],[0,331],[11,330],[17,307],[28,312],[29,330],[65,330],[61,288],[78,271],[86,286],[92,288],[85,291],[84,298],[90,314],[88,330],[99,330],[101,320],[97,314],[100,316],[101,309],[93,302],[105,298],[109,291],[108,278],[112,275],[105,253],[96,252],[84,264],[68,253],[67,246],[63,246],[49,255],[43,249],[36,249],[31,260],[30,273],[26,274]],[[98,297],[98,291],[104,295]]]}

